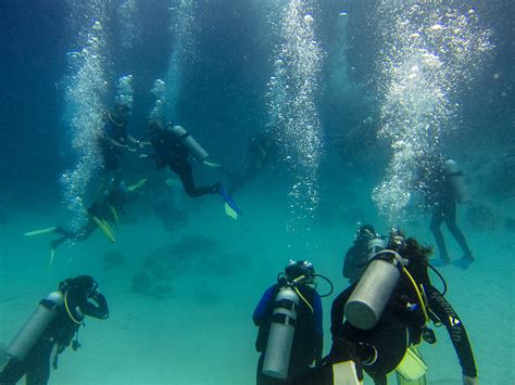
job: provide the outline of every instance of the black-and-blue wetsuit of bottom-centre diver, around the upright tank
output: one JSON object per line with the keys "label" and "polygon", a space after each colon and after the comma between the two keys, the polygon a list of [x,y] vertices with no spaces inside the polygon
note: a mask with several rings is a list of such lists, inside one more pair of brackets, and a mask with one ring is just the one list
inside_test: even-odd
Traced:
{"label": "black-and-blue wetsuit of bottom-centre diver, around the upright tank", "polygon": [[286,380],[277,380],[262,373],[275,298],[280,287],[279,284],[268,287],[252,316],[254,324],[260,328],[255,341],[255,349],[261,352],[256,371],[258,385],[292,384],[293,377],[305,373],[314,361],[322,359],[324,332],[322,326],[321,296],[314,288],[306,285],[299,285],[298,288],[300,293],[311,304],[314,312],[300,299],[299,308],[297,309],[297,324],[291,347],[288,377]]}

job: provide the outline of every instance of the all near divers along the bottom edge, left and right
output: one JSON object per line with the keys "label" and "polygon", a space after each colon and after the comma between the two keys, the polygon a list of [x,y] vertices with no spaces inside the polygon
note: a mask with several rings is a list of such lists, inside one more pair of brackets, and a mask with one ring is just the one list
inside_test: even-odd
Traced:
{"label": "all near divers along the bottom edge, left and right", "polygon": [[[256,384],[357,385],[366,373],[376,385],[385,385],[394,373],[398,384],[424,385],[428,368],[417,346],[437,342],[432,323],[445,326],[463,384],[477,385],[464,323],[445,298],[444,279],[429,264],[431,253],[399,229],[392,228],[385,238],[370,224],[360,226],[343,260],[350,285],[332,301],[332,344],[325,357],[322,297],[332,294],[332,283],[316,273],[312,262],[290,260],[252,316],[259,326],[255,349],[261,354]],[[442,292],[432,284],[428,269],[442,281]],[[317,292],[319,279],[328,283],[328,293]],[[109,317],[108,301],[95,279],[79,275],[60,282],[8,345],[0,385],[14,385],[24,375],[27,385],[47,384],[51,362],[58,369],[58,357],[66,347],[80,347],[78,330],[86,316]]]}

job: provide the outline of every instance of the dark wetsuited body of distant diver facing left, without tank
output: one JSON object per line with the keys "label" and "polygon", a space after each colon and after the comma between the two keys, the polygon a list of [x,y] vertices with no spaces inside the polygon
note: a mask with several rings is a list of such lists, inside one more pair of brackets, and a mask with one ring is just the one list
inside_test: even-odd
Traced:
{"label": "dark wetsuited body of distant diver facing left, without tank", "polygon": [[219,192],[221,183],[211,187],[197,187],[193,180],[193,170],[188,162],[189,151],[181,144],[181,138],[176,138],[172,132],[174,126],[163,127],[160,123],[152,121],[149,125],[150,142],[154,147],[155,164],[158,169],[169,167],[178,175],[186,193],[191,197]]}

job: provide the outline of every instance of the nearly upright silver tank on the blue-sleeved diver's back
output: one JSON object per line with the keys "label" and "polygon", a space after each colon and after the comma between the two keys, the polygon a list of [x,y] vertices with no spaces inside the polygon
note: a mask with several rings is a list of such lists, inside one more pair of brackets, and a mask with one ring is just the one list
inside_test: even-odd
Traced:
{"label": "nearly upright silver tank on the blue-sleeved diver's back", "polygon": [[274,378],[288,376],[298,306],[299,296],[291,287],[284,287],[277,293],[263,361],[262,372],[265,375]]}

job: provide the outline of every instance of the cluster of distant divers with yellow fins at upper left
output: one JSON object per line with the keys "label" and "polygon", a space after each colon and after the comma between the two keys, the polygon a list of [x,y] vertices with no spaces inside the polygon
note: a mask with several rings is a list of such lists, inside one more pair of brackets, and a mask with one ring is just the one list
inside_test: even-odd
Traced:
{"label": "cluster of distant divers with yellow fins at upper left", "polygon": [[[25,233],[26,236],[47,233],[59,235],[50,243],[50,264],[53,261],[58,246],[66,241],[86,241],[97,229],[100,229],[110,242],[116,241],[113,228],[120,226],[118,213],[124,209],[133,193],[145,188],[148,182],[148,179],[141,179],[135,184],[126,185],[122,177],[122,163],[126,152],[139,153],[140,159],[153,159],[158,170],[169,168],[177,175],[184,191],[190,197],[219,194],[224,202],[225,213],[234,219],[241,216],[242,211],[231,194],[254,178],[277,155],[273,130],[267,129],[250,140],[246,158],[236,172],[209,162],[208,152],[181,126],[173,123],[163,124],[151,120],[148,127],[149,141],[135,139],[127,130],[130,115],[130,107],[121,103],[116,103],[112,111],[104,114],[104,129],[97,139],[104,177],[93,194],[92,203],[86,209],[86,223],[76,231],[53,226]],[[147,149],[151,151],[147,152]],[[219,181],[211,185],[197,185],[190,158],[217,169],[227,177],[229,188],[226,189]],[[166,182],[168,185],[173,184],[171,179]]]}

